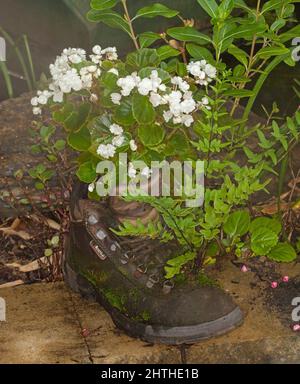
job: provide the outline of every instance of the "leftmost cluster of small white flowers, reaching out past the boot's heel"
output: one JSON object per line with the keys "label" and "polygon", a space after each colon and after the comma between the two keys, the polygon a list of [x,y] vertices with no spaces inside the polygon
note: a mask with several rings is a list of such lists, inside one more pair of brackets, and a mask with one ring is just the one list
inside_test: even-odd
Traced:
{"label": "leftmost cluster of small white flowers, reaching out past the boot's heel", "polygon": [[[35,115],[41,114],[41,107],[46,105],[51,98],[54,102],[61,103],[63,102],[64,94],[82,89],[91,89],[93,80],[101,75],[100,65],[103,57],[107,60],[117,60],[116,48],[109,47],[102,50],[101,47],[95,46],[93,54],[90,55],[92,64],[87,61],[84,49],[64,49],[62,54],[56,58],[55,63],[50,65],[52,82],[49,85],[49,89],[38,91],[37,96],[31,100],[33,113]],[[77,69],[76,65],[82,63],[86,63],[86,65]],[[95,96],[92,99],[95,101]]]}

